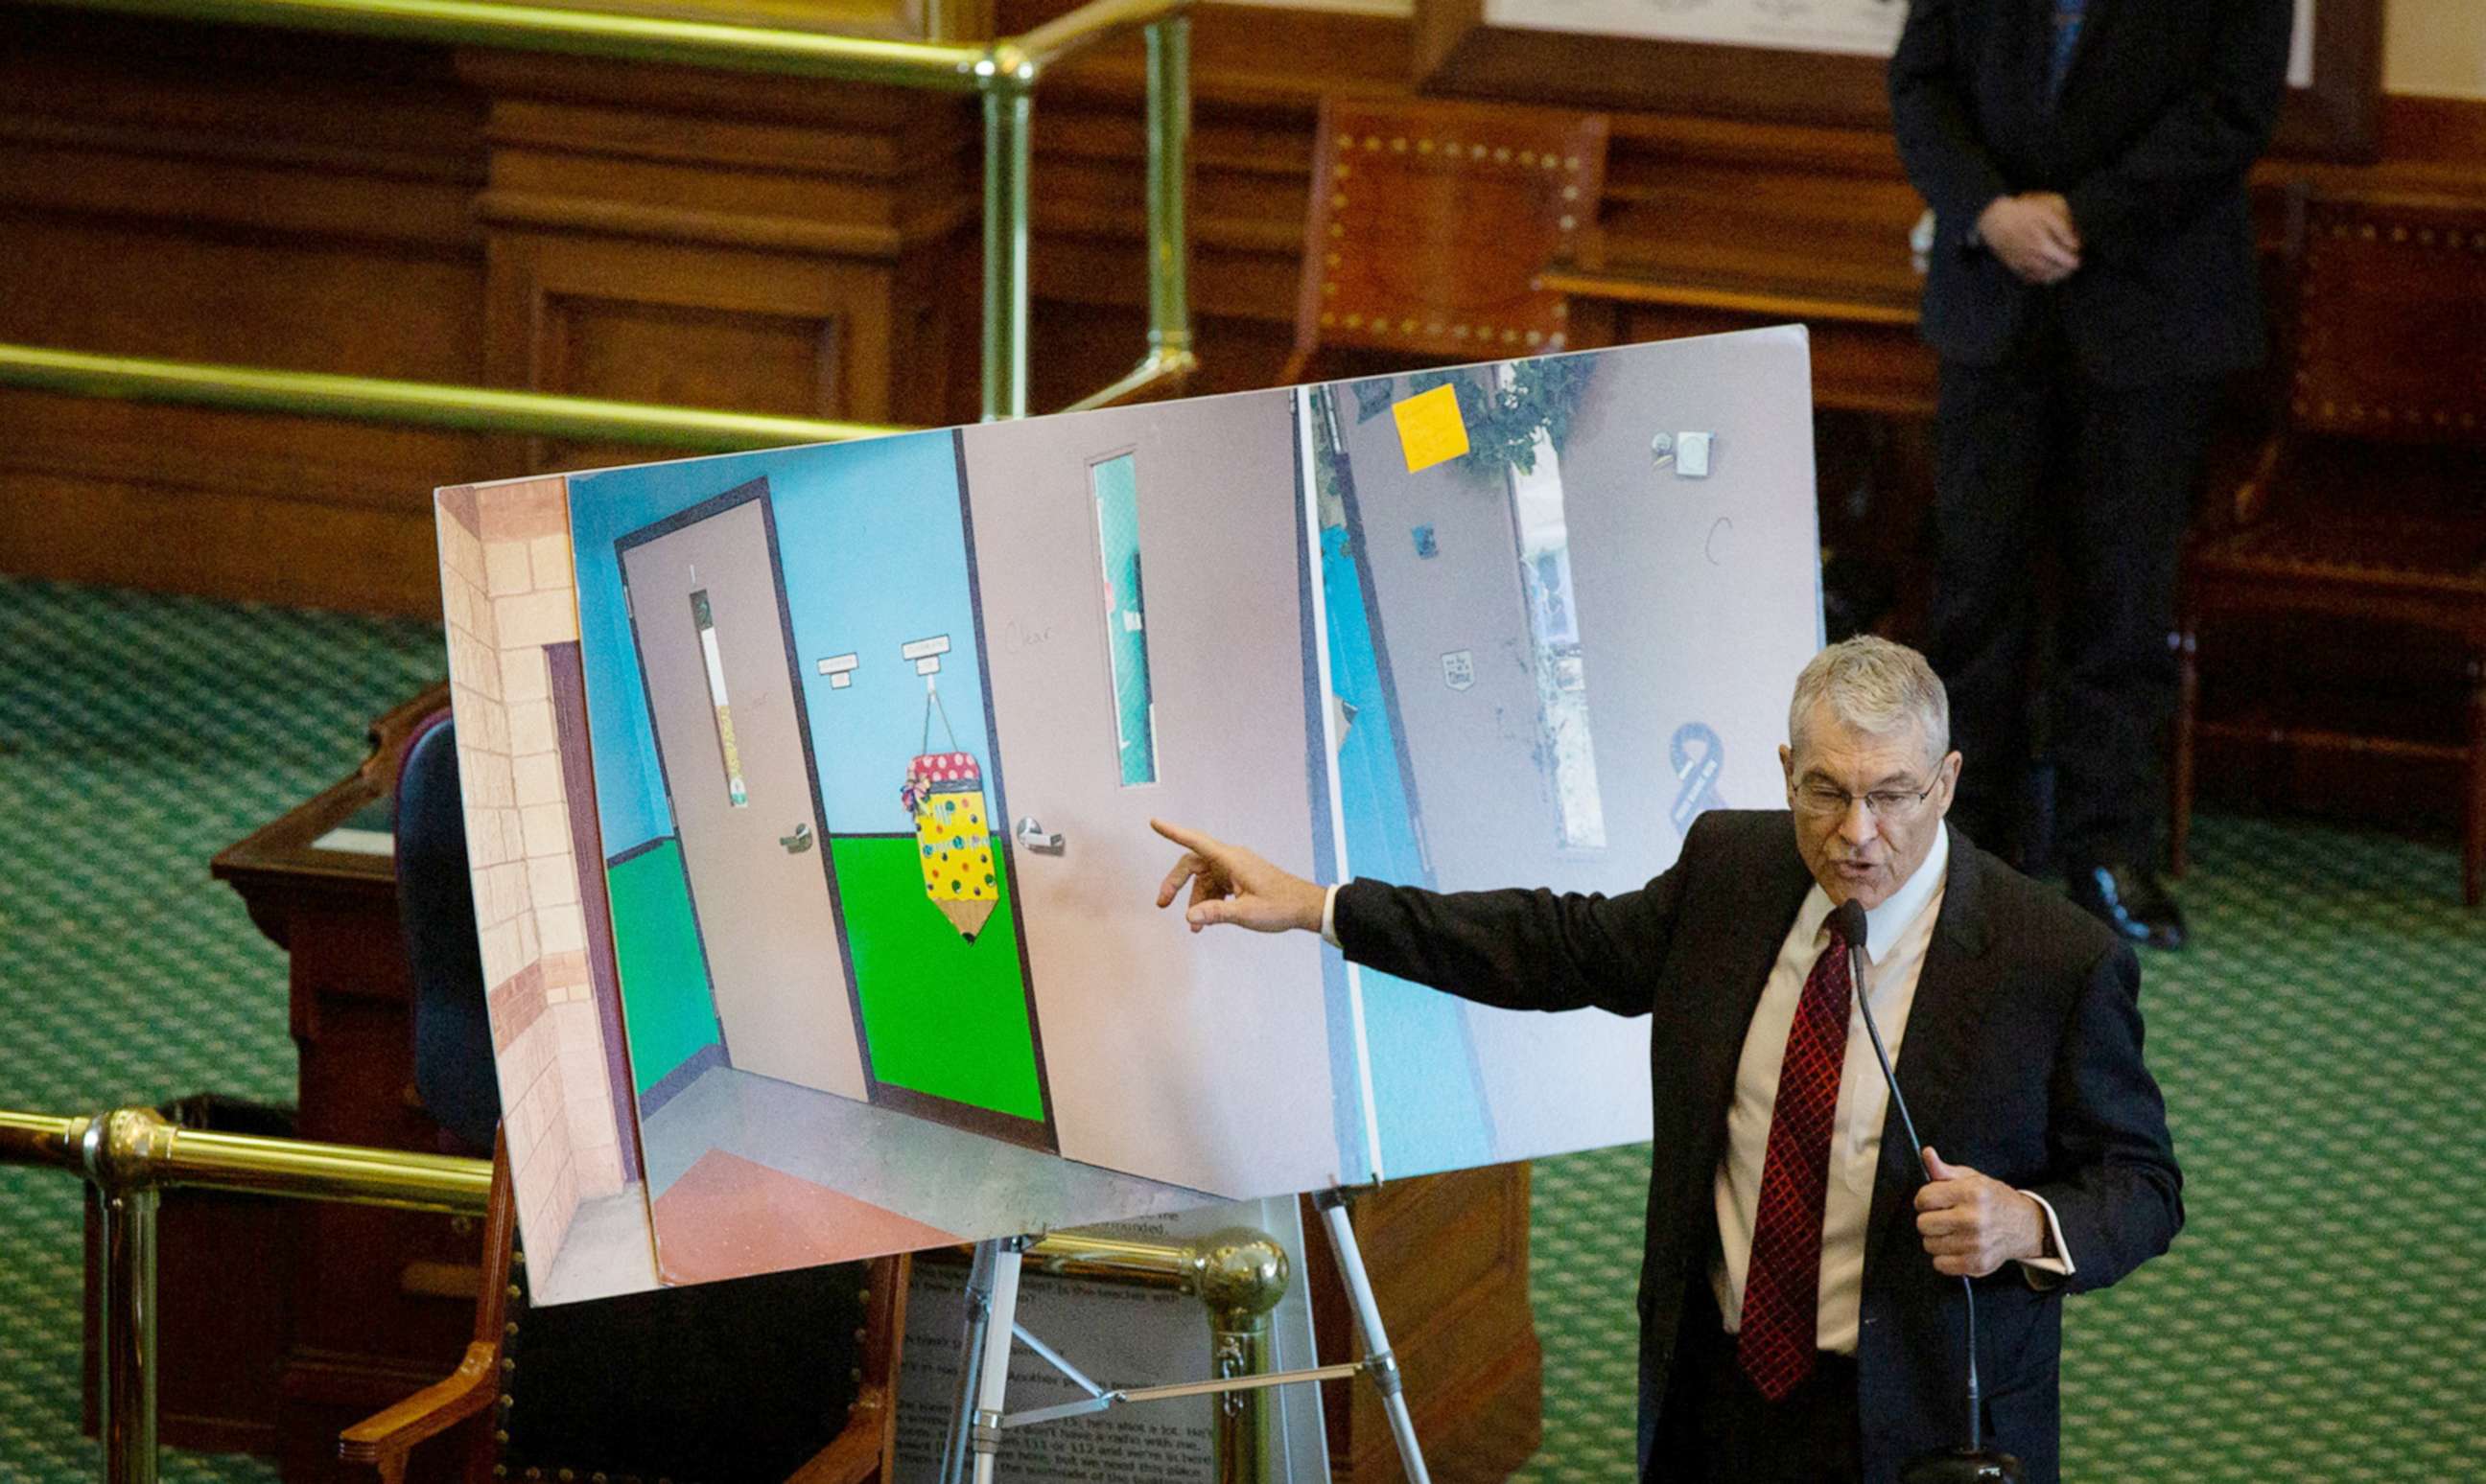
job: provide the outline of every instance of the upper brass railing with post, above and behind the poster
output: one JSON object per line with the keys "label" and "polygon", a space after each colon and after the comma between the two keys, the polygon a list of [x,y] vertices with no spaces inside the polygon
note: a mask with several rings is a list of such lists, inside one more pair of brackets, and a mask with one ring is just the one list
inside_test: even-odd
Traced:
{"label": "upper brass railing with post, above and behind the poster", "polygon": [[[525,47],[689,67],[728,67],[845,82],[883,82],[984,99],[984,418],[1027,415],[1027,176],[1034,94],[1062,60],[1139,27],[1149,70],[1149,348],[1109,388],[1074,403],[1106,405],[1188,375],[1191,350],[1188,231],[1183,179],[1191,152],[1191,0],[1089,0],[1024,35],[992,42],[900,42],[758,25],[609,15],[497,0],[35,0],[85,10],[127,10],[179,20],[333,30],[400,40]],[[55,360],[77,360],[62,370]],[[75,380],[72,380],[75,378]],[[0,346],[0,385],[80,390],[142,400],[174,400],[261,413],[316,413],[428,423],[485,433],[587,428],[631,442],[671,447],[761,447],[888,433],[853,423],[753,420],[689,408],[534,398],[485,388],[447,388],[378,378],[323,378],[80,355],[32,346]],[[465,395],[460,395],[465,393]],[[758,430],[756,423],[773,428]],[[823,433],[828,430],[828,433]],[[674,437],[684,435],[684,437]]]}

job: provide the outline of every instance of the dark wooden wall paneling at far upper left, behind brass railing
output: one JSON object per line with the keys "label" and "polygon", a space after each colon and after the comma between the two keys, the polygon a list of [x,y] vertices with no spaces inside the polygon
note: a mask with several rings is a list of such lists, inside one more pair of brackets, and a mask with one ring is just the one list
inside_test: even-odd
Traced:
{"label": "dark wooden wall paneling at far upper left, behind brass railing", "polygon": [[[482,109],[445,55],[45,12],[0,47],[0,338],[475,380]],[[0,395],[0,569],[438,611],[472,440]],[[410,470],[420,470],[410,477]]]}

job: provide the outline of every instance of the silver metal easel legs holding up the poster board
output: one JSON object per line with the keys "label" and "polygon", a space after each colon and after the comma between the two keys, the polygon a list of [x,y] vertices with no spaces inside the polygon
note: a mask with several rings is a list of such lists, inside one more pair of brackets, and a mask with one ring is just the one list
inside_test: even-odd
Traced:
{"label": "silver metal easel legs holding up the poster board", "polygon": [[[950,1409],[950,1439],[942,1447],[942,1484],[992,1484],[992,1469],[1002,1452],[1002,1432],[1034,1427],[1064,1417],[1091,1417],[1131,1402],[1171,1402],[1176,1397],[1206,1397],[1216,1392],[1241,1392],[1258,1387],[1283,1387],[1295,1382],[1325,1382],[1352,1375],[1370,1375],[1382,1395],[1382,1412],[1390,1417],[1390,1437],[1397,1439],[1400,1467],[1407,1484],[1432,1484],[1424,1472],[1424,1452],[1415,1439],[1415,1422],[1407,1417],[1407,1395],[1400,1387],[1397,1355],[1390,1352],[1390,1335],[1382,1332],[1380,1305],[1372,1303],[1372,1280],[1365,1278],[1365,1255],[1355,1245],[1355,1228],[1347,1223],[1347,1191],[1323,1191],[1313,1196],[1323,1225],[1330,1230],[1330,1250],[1337,1253],[1337,1270],[1347,1280],[1347,1300],[1355,1305],[1355,1325],[1365,1335],[1365,1357],[1355,1365],[1320,1365],[1310,1370],[1285,1370],[1268,1375],[1233,1375],[1206,1382],[1178,1382],[1166,1387],[1106,1390],[1079,1372],[1052,1345],[1029,1335],[1019,1320],[1019,1265],[1029,1238],[999,1238],[975,1245],[975,1265],[967,1270],[967,1322],[960,1345],[957,1397]],[[1024,1340],[1047,1365],[1059,1370],[1086,1399],[1059,1407],[1034,1407],[1029,1412],[1004,1412],[1009,1390],[1009,1342]],[[972,1472],[970,1472],[972,1469]]]}

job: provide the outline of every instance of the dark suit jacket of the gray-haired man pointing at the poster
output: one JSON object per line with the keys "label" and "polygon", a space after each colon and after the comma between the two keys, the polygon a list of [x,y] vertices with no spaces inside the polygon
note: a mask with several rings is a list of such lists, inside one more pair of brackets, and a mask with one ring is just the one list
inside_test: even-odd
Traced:
{"label": "dark suit jacket of the gray-haired man pointing at the poster", "polygon": [[[1683,855],[1636,892],[1337,892],[1347,957],[1509,1009],[1651,1017],[1656,1156],[1641,1265],[1641,1412],[1666,1397],[1686,1283],[1718,1243],[1710,1186],[1745,1027],[1812,887],[1785,813],[1700,815]],[[2053,1203],[2078,1273],[2036,1290],[2016,1263],[1976,1285],[1979,1372],[2001,1447],[2031,1484],[2056,1477],[2056,1357],[2066,1290],[2103,1288],[2168,1248],[2183,1176],[2140,1064],[2140,969],[2096,920],[1952,833],[1942,917],[1899,1047],[1917,1131],[1947,1161]],[[1914,1228],[1922,1183],[1892,1119],[1865,1238],[1857,1404],[1865,1479],[1892,1482],[1961,1442],[1959,1280]],[[1663,1459],[1651,1479],[1666,1479]]]}

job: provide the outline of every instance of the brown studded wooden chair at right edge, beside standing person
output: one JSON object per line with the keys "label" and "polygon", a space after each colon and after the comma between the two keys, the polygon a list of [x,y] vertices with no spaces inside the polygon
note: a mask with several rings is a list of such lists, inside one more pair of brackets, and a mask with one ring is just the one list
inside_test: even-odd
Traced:
{"label": "brown studded wooden chair at right edge, beside standing person", "polygon": [[[2486,887],[2486,204],[2305,201],[2292,318],[2280,430],[2185,552],[2173,865],[2185,865],[2205,736],[2451,761],[2474,907]],[[2431,736],[2377,736],[2379,706],[2322,696],[2208,718],[2200,634],[2222,616],[2441,644],[2466,669],[2466,718],[2444,706]]]}

